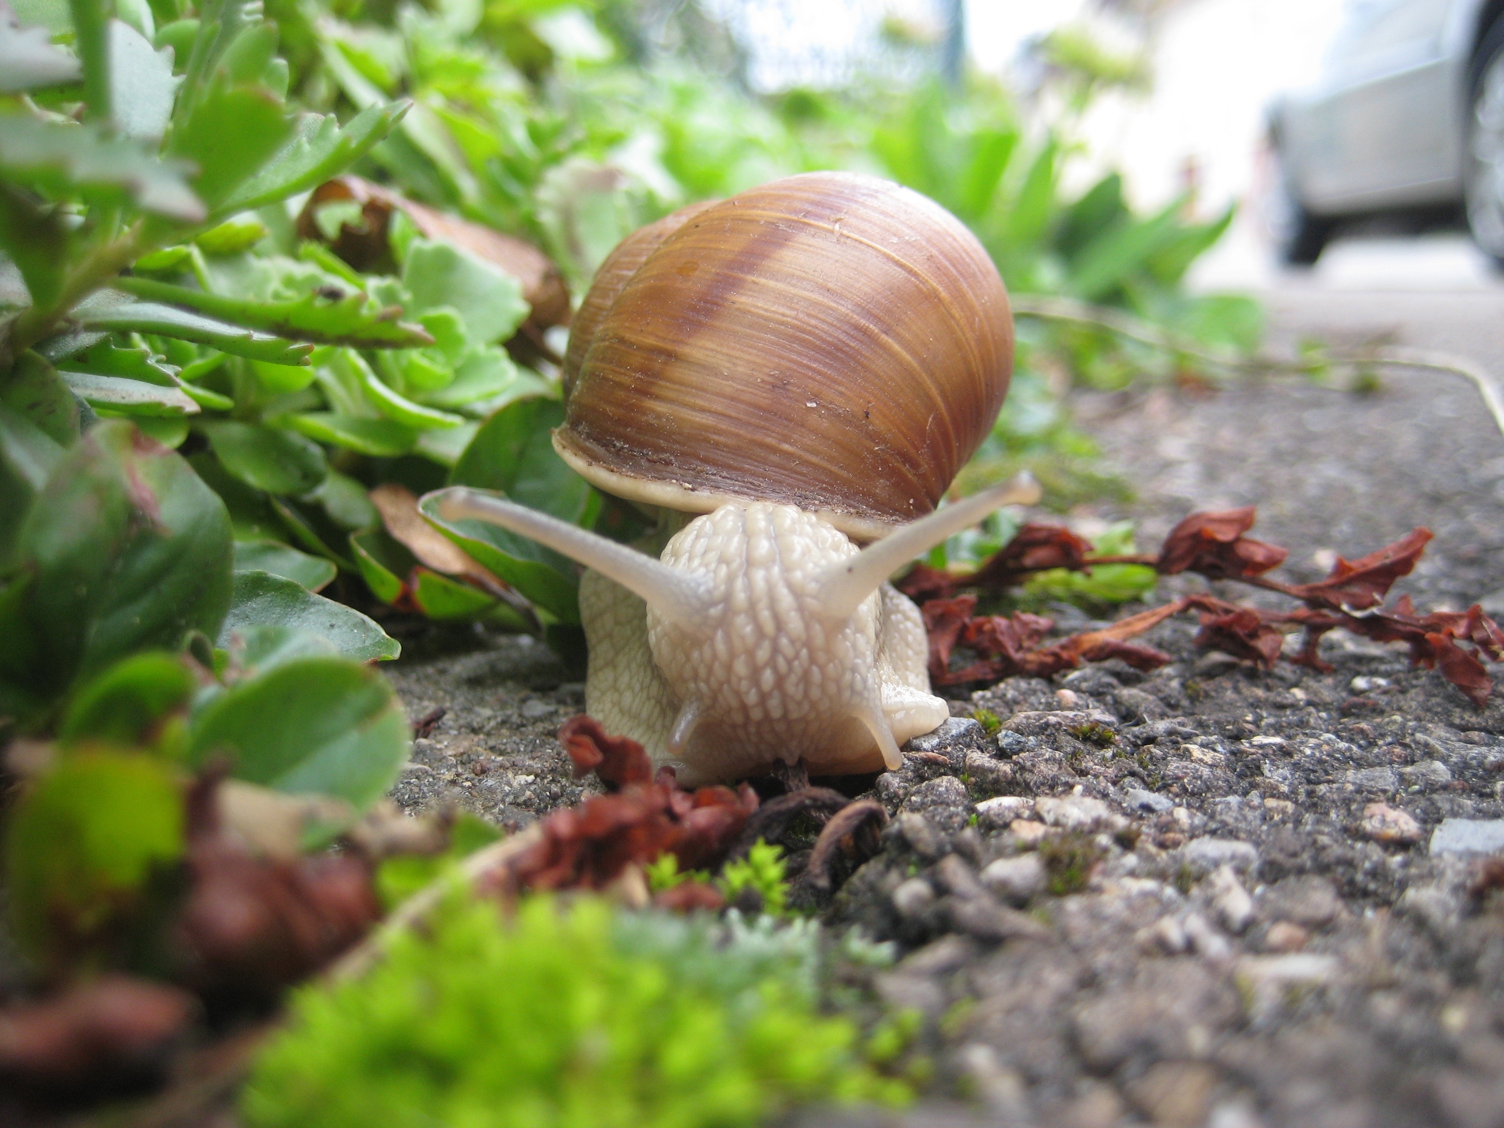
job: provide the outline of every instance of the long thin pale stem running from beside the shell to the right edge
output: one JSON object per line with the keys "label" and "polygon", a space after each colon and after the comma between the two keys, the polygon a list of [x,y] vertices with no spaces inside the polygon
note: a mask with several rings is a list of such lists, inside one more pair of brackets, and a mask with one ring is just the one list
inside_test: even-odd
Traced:
{"label": "long thin pale stem running from beside the shell to the right edge", "polygon": [[1432,352],[1429,349],[1384,347],[1358,353],[1328,353],[1328,356],[1321,362],[1289,361],[1280,356],[1269,356],[1268,353],[1242,356],[1235,353],[1211,352],[1188,337],[1170,332],[1169,329],[1161,329],[1157,325],[1151,325],[1149,322],[1133,317],[1120,310],[1111,310],[1102,305],[1089,305],[1069,298],[1045,298],[1038,295],[1014,296],[1011,304],[1014,314],[1020,317],[1035,317],[1038,320],[1089,325],[1098,329],[1107,329],[1108,332],[1139,341],[1140,344],[1148,344],[1163,352],[1191,356],[1203,361],[1205,364],[1230,368],[1233,371],[1278,371],[1292,376],[1308,376],[1310,373],[1330,365],[1376,365],[1385,368],[1426,368],[1429,371],[1450,373],[1453,376],[1460,376],[1477,388],[1483,405],[1489,409],[1489,415],[1493,418],[1493,426],[1498,429],[1499,435],[1504,436],[1504,394],[1499,393],[1498,384],[1495,384],[1493,378],[1483,371],[1483,368],[1472,364],[1466,358],[1456,356],[1453,353]]}

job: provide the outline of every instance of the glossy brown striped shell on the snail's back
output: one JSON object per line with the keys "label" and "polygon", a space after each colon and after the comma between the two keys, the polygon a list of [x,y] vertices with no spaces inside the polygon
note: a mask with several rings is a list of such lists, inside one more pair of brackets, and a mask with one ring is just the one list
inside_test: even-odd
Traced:
{"label": "glossy brown striped shell on the snail's back", "polygon": [[1003,281],[960,220],[871,176],[791,176],[612,253],[575,320],[553,445],[633,501],[778,501],[881,535],[938,504],[1012,352]]}

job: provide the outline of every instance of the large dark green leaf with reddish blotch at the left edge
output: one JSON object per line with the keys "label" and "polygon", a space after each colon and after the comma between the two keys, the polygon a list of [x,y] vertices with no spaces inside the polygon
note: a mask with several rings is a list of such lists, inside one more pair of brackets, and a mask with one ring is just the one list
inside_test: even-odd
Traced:
{"label": "large dark green leaf with reddish blotch at the left edge", "polygon": [[211,638],[230,603],[230,520],[183,459],[104,420],[21,525],[27,597],[0,612],[0,681],[38,696],[135,650]]}

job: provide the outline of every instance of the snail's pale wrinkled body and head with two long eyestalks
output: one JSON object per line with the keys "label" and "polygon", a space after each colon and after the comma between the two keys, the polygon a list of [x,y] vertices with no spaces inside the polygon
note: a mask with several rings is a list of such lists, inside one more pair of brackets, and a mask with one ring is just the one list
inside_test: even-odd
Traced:
{"label": "snail's pale wrinkled body and head with two long eyestalks", "polygon": [[800,758],[815,775],[898,767],[898,746],[951,713],[929,693],[919,609],[886,578],[1038,487],[985,490],[866,549],[793,505],[728,504],[662,559],[465,487],[438,496],[445,520],[487,520],[587,566],[585,707],[693,785]]}

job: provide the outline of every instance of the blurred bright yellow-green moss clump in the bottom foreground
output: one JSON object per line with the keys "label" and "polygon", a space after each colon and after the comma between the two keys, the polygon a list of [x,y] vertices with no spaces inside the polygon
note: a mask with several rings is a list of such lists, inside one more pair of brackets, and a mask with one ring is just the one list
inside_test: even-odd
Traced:
{"label": "blurred bright yellow-green moss clump in the bottom foreground", "polygon": [[[623,920],[588,898],[529,898],[505,923],[490,902],[448,904],[364,979],[295,997],[247,1084],[247,1125],[731,1128],[809,1101],[907,1099],[851,1021],[815,1009],[803,925],[779,940]],[[719,966],[686,960],[699,949]]]}

